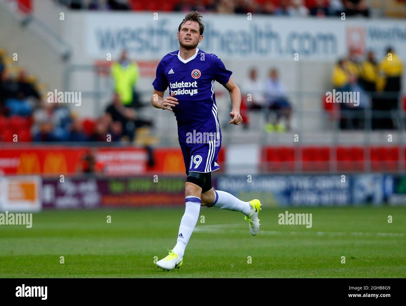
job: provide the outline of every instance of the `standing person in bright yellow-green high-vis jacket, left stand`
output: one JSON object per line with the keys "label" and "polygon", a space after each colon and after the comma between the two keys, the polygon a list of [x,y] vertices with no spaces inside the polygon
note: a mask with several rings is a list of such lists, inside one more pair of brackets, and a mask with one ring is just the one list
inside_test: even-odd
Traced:
{"label": "standing person in bright yellow-green high-vis jacket, left stand", "polygon": [[140,78],[140,71],[136,62],[131,62],[124,50],[120,60],[111,67],[114,80],[114,90],[119,94],[121,103],[131,106],[134,100],[134,86]]}

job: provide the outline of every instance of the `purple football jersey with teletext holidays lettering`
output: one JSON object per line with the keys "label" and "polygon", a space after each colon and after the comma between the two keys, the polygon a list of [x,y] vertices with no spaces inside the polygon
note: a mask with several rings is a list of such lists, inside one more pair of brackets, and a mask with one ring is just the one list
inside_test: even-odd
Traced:
{"label": "purple football jersey with teletext holidays lettering", "polygon": [[176,92],[179,104],[172,109],[179,142],[187,142],[188,135],[195,133],[210,133],[214,139],[221,138],[214,81],[226,84],[231,73],[216,54],[199,49],[187,60],[179,56],[179,50],[162,58],[152,85],[157,91],[169,87],[168,95]]}

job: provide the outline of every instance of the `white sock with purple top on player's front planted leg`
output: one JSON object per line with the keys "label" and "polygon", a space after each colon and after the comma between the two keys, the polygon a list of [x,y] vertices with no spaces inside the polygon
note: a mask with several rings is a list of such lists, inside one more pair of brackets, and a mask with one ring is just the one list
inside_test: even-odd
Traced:
{"label": "white sock with purple top on player's front planted leg", "polygon": [[201,199],[199,199],[197,196],[187,196],[185,199],[185,204],[185,213],[180,222],[178,237],[176,240],[177,243],[175,248],[173,248],[173,252],[175,252],[179,258],[183,257],[186,245],[188,244],[190,236],[192,236],[194,226],[199,219]]}

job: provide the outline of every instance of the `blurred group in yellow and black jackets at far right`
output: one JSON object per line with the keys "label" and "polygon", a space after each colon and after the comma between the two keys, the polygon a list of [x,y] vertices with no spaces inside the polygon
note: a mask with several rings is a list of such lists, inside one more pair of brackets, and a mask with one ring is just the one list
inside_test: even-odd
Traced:
{"label": "blurred group in yellow and black jackets at far right", "polygon": [[350,48],[333,68],[332,83],[336,92],[359,93],[357,103],[339,103],[341,129],[363,129],[365,110],[371,110],[372,129],[397,128],[396,112],[400,104],[403,63],[392,47],[376,59],[373,51],[360,52]]}

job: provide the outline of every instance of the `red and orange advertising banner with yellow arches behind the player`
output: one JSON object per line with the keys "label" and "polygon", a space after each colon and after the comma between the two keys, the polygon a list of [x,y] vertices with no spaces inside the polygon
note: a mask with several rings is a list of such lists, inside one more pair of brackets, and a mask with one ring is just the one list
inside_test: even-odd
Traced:
{"label": "red and orange advertising banner with yellow arches behind the player", "polygon": [[[106,176],[146,173],[186,175],[182,151],[178,147],[158,147],[152,156],[136,147],[38,146],[0,149],[0,175],[60,176],[99,172]],[[218,163],[224,161],[224,149]],[[91,163],[93,165],[89,165]],[[223,171],[225,164],[220,164]]]}

